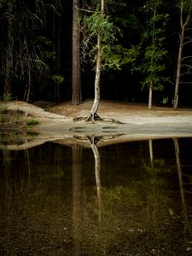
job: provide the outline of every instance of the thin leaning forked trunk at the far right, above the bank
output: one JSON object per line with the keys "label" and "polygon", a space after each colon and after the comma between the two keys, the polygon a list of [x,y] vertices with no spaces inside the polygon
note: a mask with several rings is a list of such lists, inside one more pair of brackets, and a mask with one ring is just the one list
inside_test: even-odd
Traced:
{"label": "thin leaning forked trunk at the far right, above the bank", "polygon": [[187,18],[183,23],[183,1],[182,1],[180,6],[181,33],[180,33],[180,43],[179,43],[178,57],[177,57],[177,76],[176,76],[174,102],[173,102],[173,108],[175,110],[177,110],[177,106],[178,106],[178,89],[179,89],[180,77],[181,77],[184,32],[185,32],[185,27],[188,26],[188,23],[189,23],[190,11],[191,11],[191,7],[189,8],[189,13],[187,15]]}

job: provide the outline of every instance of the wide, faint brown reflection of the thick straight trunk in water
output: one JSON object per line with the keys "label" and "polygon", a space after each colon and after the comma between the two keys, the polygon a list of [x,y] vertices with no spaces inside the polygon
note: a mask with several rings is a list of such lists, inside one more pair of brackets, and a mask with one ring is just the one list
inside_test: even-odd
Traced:
{"label": "wide, faint brown reflection of the thick straight trunk in water", "polygon": [[82,148],[79,145],[73,145],[73,237],[75,241],[75,250],[77,255],[80,250],[80,225],[81,225],[81,162]]}

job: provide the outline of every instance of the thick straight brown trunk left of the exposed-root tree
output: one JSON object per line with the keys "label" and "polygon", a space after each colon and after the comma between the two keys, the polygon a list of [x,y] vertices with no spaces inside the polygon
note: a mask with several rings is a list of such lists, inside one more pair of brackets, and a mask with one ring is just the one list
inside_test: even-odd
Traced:
{"label": "thick straight brown trunk left of the exposed-root tree", "polygon": [[73,43],[72,43],[72,103],[82,103],[80,76],[80,28],[79,28],[79,0],[73,0]]}

